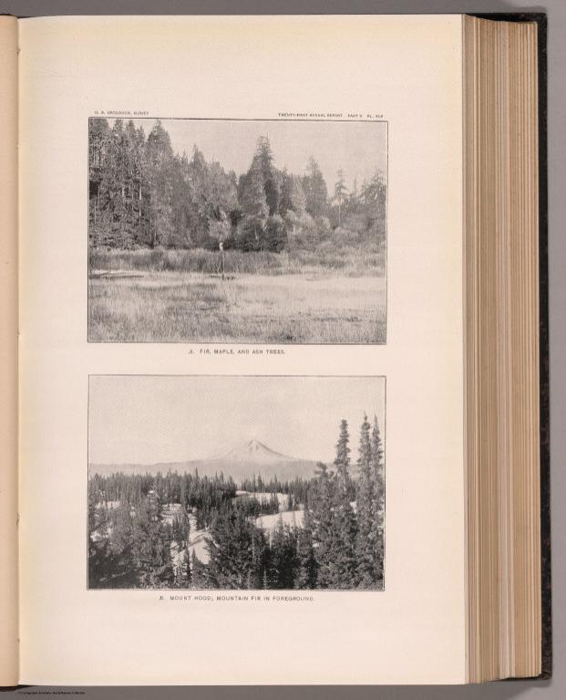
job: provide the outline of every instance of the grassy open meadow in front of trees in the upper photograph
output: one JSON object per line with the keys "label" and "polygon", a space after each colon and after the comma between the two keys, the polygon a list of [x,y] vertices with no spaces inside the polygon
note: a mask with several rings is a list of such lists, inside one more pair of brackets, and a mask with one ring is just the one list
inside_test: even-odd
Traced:
{"label": "grassy open meadow in front of trees in the upper photograph", "polygon": [[[278,255],[236,254],[227,256],[222,279],[211,267],[218,256],[209,251],[190,257],[196,269],[183,269],[180,256],[169,264],[167,256],[156,257],[152,266],[151,253],[143,265],[141,256],[131,254],[98,259],[97,267],[91,261],[91,342],[386,340],[385,277],[362,256],[344,257],[341,266],[300,266]],[[170,269],[171,261],[179,263],[177,269]],[[127,274],[133,270],[139,275]]]}

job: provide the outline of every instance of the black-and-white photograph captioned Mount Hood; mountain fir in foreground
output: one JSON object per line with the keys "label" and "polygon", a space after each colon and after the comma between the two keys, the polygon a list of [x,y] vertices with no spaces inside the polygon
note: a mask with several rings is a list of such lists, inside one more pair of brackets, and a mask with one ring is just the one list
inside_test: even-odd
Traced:
{"label": "black-and-white photograph captioned Mount Hood; mountain fir in foreground", "polygon": [[386,378],[92,375],[89,589],[384,590]]}

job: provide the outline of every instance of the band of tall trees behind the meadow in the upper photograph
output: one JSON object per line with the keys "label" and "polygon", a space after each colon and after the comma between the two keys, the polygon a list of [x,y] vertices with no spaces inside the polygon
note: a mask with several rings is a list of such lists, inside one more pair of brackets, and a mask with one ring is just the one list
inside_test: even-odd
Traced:
{"label": "band of tall trees behind the meadow in the upper photograph", "polygon": [[[237,134],[234,133],[237,138]],[[329,187],[313,157],[302,174],[279,170],[260,136],[247,172],[225,172],[195,145],[175,153],[156,121],[146,138],[132,120],[89,121],[89,241],[129,249],[238,248],[280,252],[326,242],[379,246],[386,235],[381,172],[346,187],[338,170]]]}

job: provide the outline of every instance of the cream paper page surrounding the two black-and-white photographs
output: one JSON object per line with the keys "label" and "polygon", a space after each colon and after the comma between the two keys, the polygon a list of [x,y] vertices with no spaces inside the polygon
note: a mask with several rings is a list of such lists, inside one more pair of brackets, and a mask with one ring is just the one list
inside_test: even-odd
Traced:
{"label": "cream paper page surrounding the two black-and-white photographs", "polygon": [[[69,17],[20,35],[20,682],[464,682],[461,18]],[[386,346],[230,359],[88,345],[96,110],[383,114]],[[269,604],[87,590],[97,373],[385,375],[386,590]]]}

